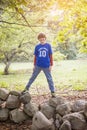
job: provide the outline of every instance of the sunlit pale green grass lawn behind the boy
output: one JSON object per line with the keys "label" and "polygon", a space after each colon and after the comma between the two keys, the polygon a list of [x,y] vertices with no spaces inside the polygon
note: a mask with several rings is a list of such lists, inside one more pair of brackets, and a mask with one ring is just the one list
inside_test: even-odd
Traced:
{"label": "sunlit pale green grass lawn behind the boy", "polygon": [[[12,63],[10,75],[2,75],[4,65],[0,64],[0,87],[10,90],[23,90],[32,74],[33,63]],[[85,90],[87,89],[87,61],[69,60],[55,62],[52,76],[58,90]],[[30,91],[32,93],[49,92],[46,78],[41,72]]]}

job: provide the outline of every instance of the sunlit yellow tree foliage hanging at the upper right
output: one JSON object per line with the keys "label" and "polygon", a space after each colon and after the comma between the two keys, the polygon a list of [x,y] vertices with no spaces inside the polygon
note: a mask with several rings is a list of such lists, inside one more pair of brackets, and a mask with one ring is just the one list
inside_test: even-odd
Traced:
{"label": "sunlit yellow tree foliage hanging at the upper right", "polygon": [[[62,2],[62,3],[61,3]],[[63,10],[62,19],[58,19],[58,33],[54,42],[69,50],[72,45],[82,53],[87,53],[87,1],[67,0],[60,1],[60,8]],[[71,45],[71,47],[70,47]]]}

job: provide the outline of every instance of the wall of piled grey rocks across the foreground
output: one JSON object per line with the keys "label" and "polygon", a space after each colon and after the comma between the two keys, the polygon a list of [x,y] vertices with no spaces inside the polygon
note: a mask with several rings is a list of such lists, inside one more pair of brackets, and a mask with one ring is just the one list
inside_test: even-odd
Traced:
{"label": "wall of piled grey rocks across the foreground", "polygon": [[0,121],[20,123],[27,119],[32,120],[31,130],[87,130],[87,101],[50,98],[38,110],[28,92],[21,95],[0,88]]}

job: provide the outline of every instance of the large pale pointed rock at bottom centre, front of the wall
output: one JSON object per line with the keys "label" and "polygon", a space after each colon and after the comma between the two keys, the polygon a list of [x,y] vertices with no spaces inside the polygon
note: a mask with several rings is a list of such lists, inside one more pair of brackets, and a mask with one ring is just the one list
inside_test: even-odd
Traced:
{"label": "large pale pointed rock at bottom centre, front of the wall", "polygon": [[32,130],[52,130],[53,124],[46,116],[38,111],[33,117]]}

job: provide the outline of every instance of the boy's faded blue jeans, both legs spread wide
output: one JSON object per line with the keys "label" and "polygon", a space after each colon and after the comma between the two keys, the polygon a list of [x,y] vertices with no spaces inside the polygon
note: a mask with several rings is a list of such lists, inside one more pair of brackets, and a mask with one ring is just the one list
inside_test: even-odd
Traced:
{"label": "boy's faded blue jeans, both legs spread wide", "polygon": [[51,76],[51,72],[49,70],[49,68],[41,68],[41,67],[38,67],[38,66],[35,66],[35,69],[33,71],[33,74],[28,82],[28,84],[26,85],[26,89],[29,89],[31,84],[33,83],[33,81],[36,79],[36,77],[38,76],[38,74],[41,72],[41,70],[44,72],[45,76],[46,76],[46,79],[47,79],[47,82],[49,84],[49,89],[51,92],[54,92],[54,83],[53,83],[53,80],[52,80],[52,76]]}

